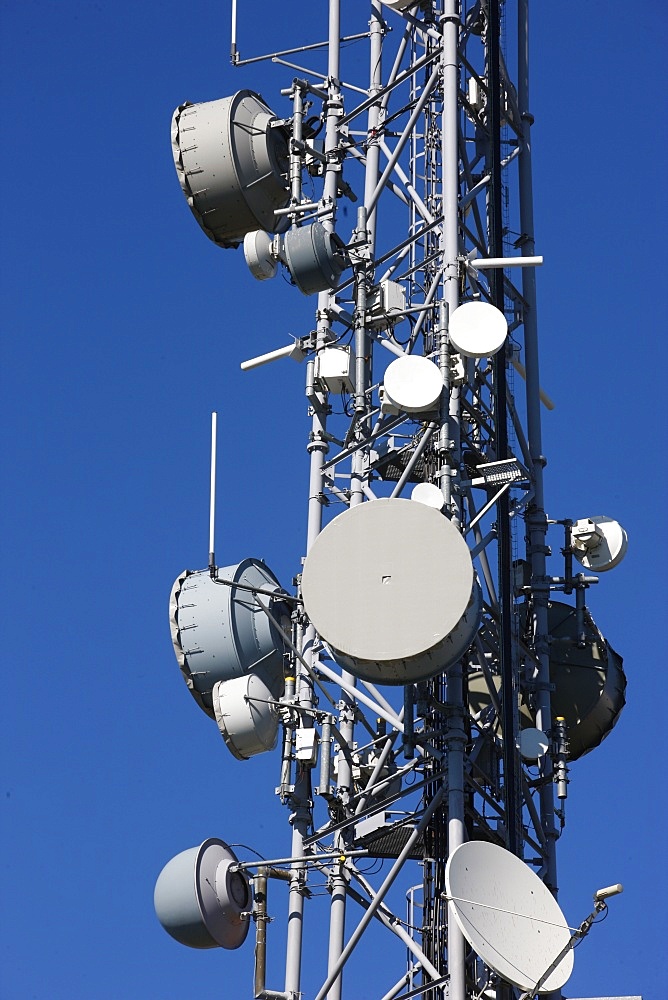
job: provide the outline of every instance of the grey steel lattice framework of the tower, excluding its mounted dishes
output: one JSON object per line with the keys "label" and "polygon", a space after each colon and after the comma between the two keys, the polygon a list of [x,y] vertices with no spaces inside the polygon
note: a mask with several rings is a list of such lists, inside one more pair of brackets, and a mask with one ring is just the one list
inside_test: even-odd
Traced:
{"label": "grey steel lattice framework of the tower, excluding its mounted dishes", "polygon": [[[383,924],[392,947],[408,955],[405,975],[394,985],[379,983],[379,997],[515,996],[462,933],[447,898],[448,859],[466,842],[497,845],[556,893],[569,738],[571,758],[591,749],[623,705],[621,661],[585,605],[591,578],[573,574],[573,555],[587,544],[595,548],[600,526],[593,526],[592,543],[584,527],[574,534],[571,522],[559,521],[551,530],[565,560],[558,575],[547,566],[541,406],[551,404],[539,380],[528,8],[528,0],[388,0],[372,2],[368,24],[365,11],[361,28],[349,30],[339,0],[330,0],[326,45],[274,54],[298,74],[282,91],[289,108],[267,127],[285,140],[285,191],[273,230],[255,226],[269,236],[254,243],[249,262],[264,267],[265,277],[285,265],[314,304],[317,297],[314,329],[294,348],[277,351],[305,359],[311,425],[304,572],[336,517],[379,500],[391,505],[429,484],[429,509],[440,510],[464,540],[475,582],[458,625],[463,650],[455,658],[443,653],[428,676],[409,673],[400,683],[393,675],[383,684],[382,664],[381,682],[370,681],[337,655],[326,629],[317,631],[301,575],[284,599],[257,581],[240,591],[222,581],[239,599],[255,601],[284,636],[284,683],[273,697],[277,793],[291,842],[277,845],[273,861],[238,869],[254,890],[246,919],[256,930],[256,997],[307,996],[307,962],[320,970],[315,1000],[357,996],[344,969],[365,948],[372,923]],[[308,69],[293,61],[303,59]],[[244,64],[236,38],[233,62]],[[212,235],[188,166],[184,122],[185,113],[177,125],[182,183]],[[253,183],[262,186],[266,176],[260,172]],[[355,205],[352,232],[342,223],[343,200]],[[315,242],[321,230],[329,239],[324,250]],[[306,250],[294,236],[304,233],[313,234]],[[232,246],[243,233],[212,238]],[[494,306],[508,324],[499,349],[479,356],[451,339],[452,317],[472,303]],[[409,406],[390,394],[387,371],[418,357],[433,366],[441,388],[435,400]],[[351,581],[363,570],[349,567]],[[203,573],[221,582],[213,554]],[[314,575],[321,587],[320,564]],[[354,597],[342,578],[332,574],[330,597],[345,618]],[[352,584],[351,591],[358,593]],[[596,735],[569,732],[568,718],[557,718],[551,705],[557,625],[550,608],[557,592],[575,595],[572,614],[564,612],[574,645],[597,649],[610,670],[619,663],[612,708],[607,715],[595,709]],[[177,590],[175,634],[183,646],[178,601]],[[421,607],[405,605],[410,631]],[[185,660],[187,667],[187,651]],[[531,766],[520,753],[527,726],[547,739]],[[578,740],[582,747],[574,749]],[[369,857],[386,859],[376,883],[360,870],[360,859]],[[327,880],[326,920],[322,900],[309,899],[314,873]],[[266,982],[272,879],[288,887],[282,989]],[[408,887],[406,918],[397,900]],[[310,912],[316,908],[317,917]],[[309,920],[327,926],[317,956],[303,949]],[[271,932],[269,938],[278,949]]]}

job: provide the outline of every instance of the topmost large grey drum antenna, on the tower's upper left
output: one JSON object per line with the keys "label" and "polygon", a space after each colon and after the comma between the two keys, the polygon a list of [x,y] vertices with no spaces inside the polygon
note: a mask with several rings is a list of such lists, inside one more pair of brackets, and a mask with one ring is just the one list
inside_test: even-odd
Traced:
{"label": "topmost large grey drum antenna, on the tower's upper left", "polygon": [[285,129],[259,94],[240,90],[182,104],[172,118],[172,153],[193,215],[214,243],[236,247],[256,229],[275,232],[287,204]]}

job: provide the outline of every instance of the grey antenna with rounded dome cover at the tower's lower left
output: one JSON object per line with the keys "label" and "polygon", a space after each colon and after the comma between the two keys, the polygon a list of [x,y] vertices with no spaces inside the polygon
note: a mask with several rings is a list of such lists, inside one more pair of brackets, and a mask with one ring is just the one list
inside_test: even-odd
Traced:
{"label": "grey antenna with rounded dome cover at the tower's lower left", "polygon": [[155,884],[156,916],[171,937],[189,948],[239,948],[248,934],[251,891],[233,871],[234,851],[205,840],[168,861]]}

